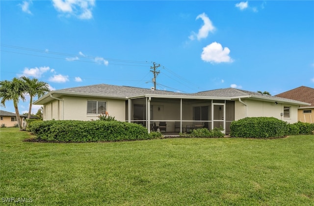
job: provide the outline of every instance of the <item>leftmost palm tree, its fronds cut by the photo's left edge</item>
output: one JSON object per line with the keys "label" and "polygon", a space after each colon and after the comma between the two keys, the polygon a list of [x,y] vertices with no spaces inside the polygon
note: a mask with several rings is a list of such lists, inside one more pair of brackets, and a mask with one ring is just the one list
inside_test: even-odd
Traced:
{"label": "leftmost palm tree, its fronds cut by the photo's left edge", "polygon": [[24,91],[25,91],[25,83],[21,79],[13,78],[12,81],[3,80],[0,81],[0,104],[5,107],[5,101],[13,101],[15,115],[20,127],[22,128],[22,122],[20,118],[18,103],[20,98],[25,101]]}

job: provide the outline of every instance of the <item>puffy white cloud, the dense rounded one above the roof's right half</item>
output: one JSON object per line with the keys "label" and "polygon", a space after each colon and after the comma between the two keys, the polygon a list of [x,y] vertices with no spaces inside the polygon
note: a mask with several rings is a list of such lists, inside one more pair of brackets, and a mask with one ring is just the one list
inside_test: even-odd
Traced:
{"label": "puffy white cloud, the dense rounded one above the roof's right half", "polygon": [[230,49],[228,47],[222,48],[221,44],[213,42],[203,48],[201,58],[210,63],[231,63],[234,60],[230,58],[229,53]]}

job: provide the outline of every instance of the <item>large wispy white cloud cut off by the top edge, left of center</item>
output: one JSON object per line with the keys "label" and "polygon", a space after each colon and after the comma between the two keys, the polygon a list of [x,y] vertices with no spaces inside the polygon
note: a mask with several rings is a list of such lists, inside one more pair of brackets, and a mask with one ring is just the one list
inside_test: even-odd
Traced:
{"label": "large wispy white cloud cut off by the top edge, left of center", "polygon": [[54,8],[66,15],[76,16],[78,19],[93,18],[92,9],[95,0],[52,0]]}

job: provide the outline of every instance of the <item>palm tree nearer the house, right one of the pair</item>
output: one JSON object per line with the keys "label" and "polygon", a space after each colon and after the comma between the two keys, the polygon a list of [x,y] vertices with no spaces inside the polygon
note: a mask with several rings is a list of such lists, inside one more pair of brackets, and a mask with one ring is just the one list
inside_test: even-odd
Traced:
{"label": "palm tree nearer the house, right one of the pair", "polygon": [[[38,98],[40,98],[41,96],[45,95],[46,92],[49,92],[50,89],[47,83],[38,81],[38,79],[36,78],[29,79],[28,77],[23,76],[21,77],[21,79],[25,82],[26,84],[25,92],[28,93],[30,97],[29,110],[28,110],[28,115],[27,115],[27,119],[30,119],[33,97],[38,96]],[[24,129],[26,129],[26,126],[27,126],[27,121],[24,126]]]}

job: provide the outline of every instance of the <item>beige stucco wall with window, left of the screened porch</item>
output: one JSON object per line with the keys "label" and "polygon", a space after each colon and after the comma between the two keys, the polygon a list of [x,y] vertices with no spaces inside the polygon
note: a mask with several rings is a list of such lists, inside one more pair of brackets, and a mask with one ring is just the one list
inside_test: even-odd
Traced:
{"label": "beige stucco wall with window, left of the screened porch", "polygon": [[87,100],[106,101],[109,115],[125,121],[125,100],[63,96],[44,105],[44,120],[91,120],[99,114],[87,115]]}

